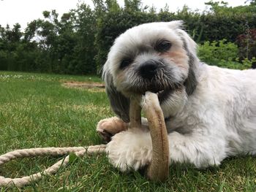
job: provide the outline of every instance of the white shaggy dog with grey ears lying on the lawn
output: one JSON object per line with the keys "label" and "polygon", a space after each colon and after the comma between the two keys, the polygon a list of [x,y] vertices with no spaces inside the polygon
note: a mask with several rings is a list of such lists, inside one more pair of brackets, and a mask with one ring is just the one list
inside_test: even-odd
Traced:
{"label": "white shaggy dog with grey ears lying on the lawn", "polygon": [[121,171],[151,162],[148,128],[128,128],[129,97],[146,91],[159,97],[170,164],[203,169],[229,156],[256,154],[256,71],[200,62],[182,21],[125,31],[110,48],[102,77],[117,117],[99,121],[97,131],[106,140],[113,136],[106,151]]}

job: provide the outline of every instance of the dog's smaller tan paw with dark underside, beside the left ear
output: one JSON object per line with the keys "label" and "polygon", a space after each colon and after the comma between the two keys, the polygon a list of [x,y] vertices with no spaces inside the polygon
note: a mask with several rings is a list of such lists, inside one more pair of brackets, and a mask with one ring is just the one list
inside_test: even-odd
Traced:
{"label": "dog's smaller tan paw with dark underside, beside the left ear", "polygon": [[106,118],[99,121],[96,131],[105,142],[110,142],[113,135],[127,131],[129,123],[125,123],[123,120],[117,117]]}

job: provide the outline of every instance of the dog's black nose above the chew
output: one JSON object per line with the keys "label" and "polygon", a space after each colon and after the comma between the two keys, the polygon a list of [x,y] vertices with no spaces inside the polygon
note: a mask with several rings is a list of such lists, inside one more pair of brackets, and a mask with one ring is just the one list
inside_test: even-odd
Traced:
{"label": "dog's black nose above the chew", "polygon": [[157,61],[148,60],[140,66],[140,75],[143,78],[151,79],[157,72],[159,64]]}

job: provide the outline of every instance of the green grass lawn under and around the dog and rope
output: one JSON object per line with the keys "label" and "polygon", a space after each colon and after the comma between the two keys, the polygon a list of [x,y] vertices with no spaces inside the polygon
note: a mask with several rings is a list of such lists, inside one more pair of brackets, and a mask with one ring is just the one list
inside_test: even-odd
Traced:
{"label": "green grass lawn under and around the dog and rope", "polygon": [[[19,148],[98,145],[97,122],[113,115],[104,91],[76,89],[66,81],[100,82],[98,77],[0,72],[0,154]],[[42,171],[59,158],[26,158],[0,167],[4,177]],[[229,158],[205,170],[170,166],[165,183],[138,172],[121,173],[105,155],[79,158],[53,176],[22,189],[0,191],[256,191],[256,159]]]}

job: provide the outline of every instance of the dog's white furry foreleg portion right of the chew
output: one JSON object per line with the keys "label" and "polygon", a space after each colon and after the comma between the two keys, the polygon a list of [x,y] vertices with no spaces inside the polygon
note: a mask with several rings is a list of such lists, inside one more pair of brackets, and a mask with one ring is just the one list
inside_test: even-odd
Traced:
{"label": "dog's white furry foreleg portion right of the chew", "polygon": [[171,163],[188,163],[202,169],[219,165],[227,157],[225,138],[216,135],[168,135]]}

